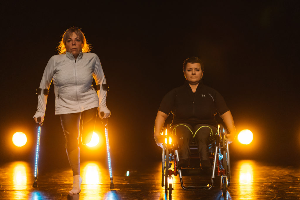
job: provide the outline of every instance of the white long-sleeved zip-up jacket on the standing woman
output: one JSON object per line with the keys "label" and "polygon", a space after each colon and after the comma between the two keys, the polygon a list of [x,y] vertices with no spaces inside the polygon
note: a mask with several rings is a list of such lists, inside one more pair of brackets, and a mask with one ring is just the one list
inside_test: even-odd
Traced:
{"label": "white long-sleeved zip-up jacket on the standing woman", "polygon": [[[92,87],[93,78],[100,89]],[[54,55],[48,61],[40,83],[38,110],[34,117],[45,115],[47,95],[43,94],[53,80],[55,93],[55,115],[82,112],[99,107],[100,112],[110,113],[106,107],[106,84],[100,59],[95,53],[80,52],[75,60],[72,53]]]}

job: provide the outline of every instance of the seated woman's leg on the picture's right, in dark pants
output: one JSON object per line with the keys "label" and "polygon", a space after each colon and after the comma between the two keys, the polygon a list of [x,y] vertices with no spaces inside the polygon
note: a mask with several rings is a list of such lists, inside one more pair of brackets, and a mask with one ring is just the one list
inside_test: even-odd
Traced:
{"label": "seated woman's leg on the picture's right, in dark pants", "polygon": [[201,168],[211,167],[208,154],[208,143],[210,136],[217,133],[217,128],[208,124],[198,124],[193,128],[195,142],[198,146]]}

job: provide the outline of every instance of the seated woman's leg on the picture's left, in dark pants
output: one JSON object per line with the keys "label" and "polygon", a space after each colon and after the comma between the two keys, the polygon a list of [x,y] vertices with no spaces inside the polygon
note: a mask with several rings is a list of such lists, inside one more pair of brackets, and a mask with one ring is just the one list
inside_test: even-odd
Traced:
{"label": "seated woman's leg on the picture's left, in dark pants", "polygon": [[179,146],[180,167],[188,167],[190,160],[190,142],[193,139],[192,126],[190,124],[175,124],[171,127],[173,135],[176,136]]}

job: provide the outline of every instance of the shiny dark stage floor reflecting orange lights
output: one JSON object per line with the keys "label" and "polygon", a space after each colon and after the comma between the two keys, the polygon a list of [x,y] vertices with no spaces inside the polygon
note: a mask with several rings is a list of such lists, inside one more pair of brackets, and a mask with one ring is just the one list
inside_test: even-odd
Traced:
{"label": "shiny dark stage floor reflecting orange lights", "polygon": [[[113,169],[115,188],[110,190],[106,163],[84,162],[82,187],[79,195],[68,195],[72,173],[67,167],[43,170],[38,176],[38,189],[32,188],[33,169],[27,162],[1,165],[0,199],[170,199],[161,187],[161,163],[144,169]],[[216,179],[212,190],[185,191],[179,177],[174,178],[171,199],[300,199],[300,167],[276,166],[253,160],[231,163],[231,185],[225,197]],[[126,172],[129,176],[126,176]],[[207,180],[209,177],[184,177],[185,184]],[[193,179],[192,179],[193,178]],[[195,178],[197,180],[195,180]],[[201,181],[200,181],[201,182]]]}

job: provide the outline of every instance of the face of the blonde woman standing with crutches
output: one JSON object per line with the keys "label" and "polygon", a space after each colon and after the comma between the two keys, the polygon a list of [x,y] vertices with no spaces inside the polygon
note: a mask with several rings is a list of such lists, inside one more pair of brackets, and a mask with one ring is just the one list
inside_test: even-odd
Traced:
{"label": "face of the blonde woman standing with crutches", "polygon": [[74,58],[76,59],[80,52],[82,52],[82,41],[78,37],[78,35],[73,32],[69,38],[67,38],[65,45],[66,51],[72,53]]}

